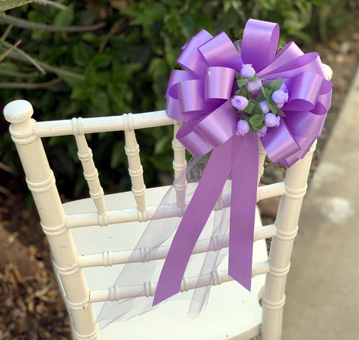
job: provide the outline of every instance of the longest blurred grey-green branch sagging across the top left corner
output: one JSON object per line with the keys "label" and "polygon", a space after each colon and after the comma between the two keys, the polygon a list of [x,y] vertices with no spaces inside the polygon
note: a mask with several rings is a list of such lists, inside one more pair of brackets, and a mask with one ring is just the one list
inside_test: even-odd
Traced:
{"label": "longest blurred grey-green branch sagging across the top left corner", "polygon": [[16,27],[24,28],[24,29],[37,29],[39,31],[47,31],[47,32],[88,32],[95,31],[96,29],[100,29],[106,26],[106,22],[99,22],[95,25],[88,26],[53,26],[46,24],[39,24],[36,22],[30,22],[28,20],[15,18],[11,15],[6,15],[5,13],[0,14],[0,22],[8,25],[14,25]]}

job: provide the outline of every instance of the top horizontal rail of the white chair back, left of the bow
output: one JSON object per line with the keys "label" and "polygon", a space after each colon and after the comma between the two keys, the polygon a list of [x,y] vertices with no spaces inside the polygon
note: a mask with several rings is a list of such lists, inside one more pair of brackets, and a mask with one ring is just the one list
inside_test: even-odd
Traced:
{"label": "top horizontal rail of the white chair back, left of the bow", "polygon": [[[151,116],[151,118],[149,118]],[[130,118],[129,118],[130,117]],[[86,133],[111,132],[127,129],[153,128],[154,126],[172,125],[175,120],[163,111],[146,114],[122,114],[118,116],[72,118],[60,121],[39,121],[34,123],[34,135],[53,137],[79,135]]]}

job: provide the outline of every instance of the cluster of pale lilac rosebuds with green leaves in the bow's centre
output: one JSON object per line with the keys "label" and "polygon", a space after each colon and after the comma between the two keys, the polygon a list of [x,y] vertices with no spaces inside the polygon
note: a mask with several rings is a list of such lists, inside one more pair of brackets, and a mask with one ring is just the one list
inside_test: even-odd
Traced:
{"label": "cluster of pale lilac rosebuds with green leaves in the bow's centre", "polygon": [[257,79],[252,64],[243,64],[241,73],[236,74],[238,90],[231,102],[238,109],[240,119],[236,135],[244,136],[248,131],[264,137],[268,128],[278,127],[281,110],[288,101],[288,90],[281,78],[265,83]]}

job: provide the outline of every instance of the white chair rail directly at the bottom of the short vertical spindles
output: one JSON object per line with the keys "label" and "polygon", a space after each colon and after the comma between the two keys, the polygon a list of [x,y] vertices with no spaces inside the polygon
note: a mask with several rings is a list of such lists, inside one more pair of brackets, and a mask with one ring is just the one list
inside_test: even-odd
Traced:
{"label": "white chair rail directly at the bottom of the short vertical spindles", "polygon": [[[259,186],[257,189],[257,201],[265,198],[280,196],[286,193],[284,182],[269,184],[266,186]],[[226,194],[223,197],[223,205],[216,205],[215,210],[228,208],[230,205],[230,195]],[[177,203],[167,205],[165,209],[155,212],[158,205],[150,205],[147,207],[146,214],[139,212],[137,208],[108,210],[106,215],[99,215],[97,212],[88,212],[83,214],[70,214],[66,218],[66,227],[69,229],[79,228],[84,226],[107,226],[109,224],[117,224],[123,222],[135,222],[139,219],[142,222],[147,222],[149,219],[163,219],[168,217],[182,217],[186,207],[179,208]],[[140,216],[139,216],[140,215]],[[147,219],[143,219],[147,216]]]}

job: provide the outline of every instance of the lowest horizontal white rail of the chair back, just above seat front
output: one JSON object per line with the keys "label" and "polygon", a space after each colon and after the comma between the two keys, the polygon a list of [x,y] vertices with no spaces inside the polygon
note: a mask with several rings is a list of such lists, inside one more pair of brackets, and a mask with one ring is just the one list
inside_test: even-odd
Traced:
{"label": "lowest horizontal white rail of the chair back, just above seat front", "polygon": [[[252,277],[269,273],[268,261],[259,262],[252,266]],[[220,285],[233,280],[227,271],[213,271],[202,276],[192,276],[183,278],[180,292],[194,290],[197,287],[208,285]],[[104,290],[90,290],[90,302],[118,301],[121,299],[130,299],[132,297],[153,297],[156,292],[157,283],[147,282],[142,285],[133,285],[129,287],[109,287]]]}

